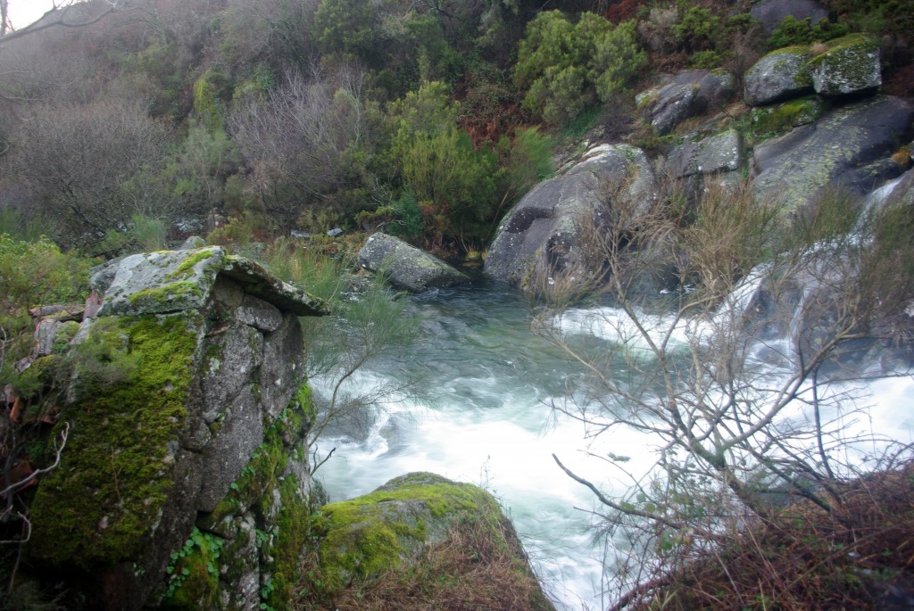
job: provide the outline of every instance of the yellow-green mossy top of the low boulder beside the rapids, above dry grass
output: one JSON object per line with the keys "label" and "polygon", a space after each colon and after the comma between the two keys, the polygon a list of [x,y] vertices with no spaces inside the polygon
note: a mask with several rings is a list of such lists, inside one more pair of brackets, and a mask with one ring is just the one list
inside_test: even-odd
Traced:
{"label": "yellow-green mossy top of the low boulder beside the rapids, above dry grass", "polygon": [[[532,579],[515,531],[491,494],[432,473],[409,473],[365,496],[321,509],[314,521],[314,534],[320,537],[319,594],[333,600],[383,574],[407,573],[453,532],[468,527],[513,555],[513,570]],[[430,575],[439,580],[460,577]],[[545,611],[553,606],[537,586],[535,595],[512,608]]]}

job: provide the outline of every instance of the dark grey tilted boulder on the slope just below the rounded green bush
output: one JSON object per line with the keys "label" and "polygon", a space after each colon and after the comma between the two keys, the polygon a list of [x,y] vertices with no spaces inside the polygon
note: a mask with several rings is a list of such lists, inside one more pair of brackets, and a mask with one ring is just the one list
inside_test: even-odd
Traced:
{"label": "dark grey tilted boulder on the slope just below the rounded green bush", "polygon": [[654,130],[664,134],[689,117],[726,102],[734,91],[733,77],[727,72],[686,70],[660,87],[639,93],[635,101]]}

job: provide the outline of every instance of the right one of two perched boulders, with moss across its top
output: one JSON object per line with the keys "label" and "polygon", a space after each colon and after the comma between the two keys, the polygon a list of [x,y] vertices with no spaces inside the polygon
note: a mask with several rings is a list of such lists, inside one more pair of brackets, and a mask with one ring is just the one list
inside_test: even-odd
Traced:
{"label": "right one of two perched boulders, with moss across its top", "polygon": [[851,34],[830,40],[824,46],[824,52],[807,64],[816,93],[845,96],[877,90],[882,85],[879,45],[875,38]]}

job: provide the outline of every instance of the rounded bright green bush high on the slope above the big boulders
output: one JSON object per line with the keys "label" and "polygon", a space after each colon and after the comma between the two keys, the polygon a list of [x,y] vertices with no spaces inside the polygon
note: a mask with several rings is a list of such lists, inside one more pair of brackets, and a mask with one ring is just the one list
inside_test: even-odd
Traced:
{"label": "rounded bright green bush high on the slope above the big boulders", "polygon": [[515,84],[526,90],[524,108],[560,125],[631,85],[644,62],[633,21],[613,26],[582,13],[572,24],[560,11],[547,11],[527,25]]}

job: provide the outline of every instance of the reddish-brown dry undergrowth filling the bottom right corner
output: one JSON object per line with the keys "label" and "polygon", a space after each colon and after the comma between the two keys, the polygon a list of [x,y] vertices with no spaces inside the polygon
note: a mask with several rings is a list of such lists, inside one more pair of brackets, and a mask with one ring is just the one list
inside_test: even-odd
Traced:
{"label": "reddish-brown dry undergrowth filling the bottom right corner", "polygon": [[626,608],[909,608],[914,462],[836,486],[831,513],[803,501],[654,580]]}

